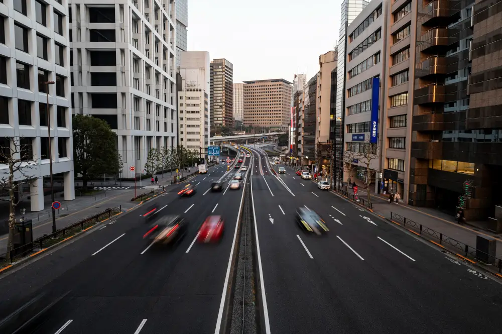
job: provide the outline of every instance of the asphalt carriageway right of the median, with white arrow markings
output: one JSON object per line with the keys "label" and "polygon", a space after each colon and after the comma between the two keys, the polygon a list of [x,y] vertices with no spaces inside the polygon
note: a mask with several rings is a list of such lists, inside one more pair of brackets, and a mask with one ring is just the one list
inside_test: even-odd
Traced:
{"label": "asphalt carriageway right of the median, with white arrow markings", "polygon": [[[502,285],[255,151],[264,331],[499,332]],[[330,231],[304,233],[297,207]],[[471,270],[471,271],[469,271]],[[265,293],[263,293],[265,292]]]}

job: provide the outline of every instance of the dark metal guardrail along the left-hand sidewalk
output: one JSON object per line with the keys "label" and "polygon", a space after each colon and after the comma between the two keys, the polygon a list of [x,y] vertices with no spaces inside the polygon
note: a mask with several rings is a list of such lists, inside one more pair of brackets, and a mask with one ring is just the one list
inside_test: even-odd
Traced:
{"label": "dark metal guardrail along the left-hand sidewalk", "polygon": [[112,215],[120,212],[122,212],[121,205],[106,209],[102,212],[96,213],[92,216],[77,221],[75,222],[75,224],[57,230],[52,234],[43,235],[42,237],[32,241],[31,243],[27,243],[26,245],[13,249],[11,252],[0,254],[0,269],[2,269],[2,267],[4,267],[5,265],[12,264],[16,261],[19,261],[29,256],[37,249],[43,250],[45,248],[53,246],[71,236],[76,235],[79,232],[84,231],[85,229],[96,224],[97,222],[106,218],[110,218]]}

